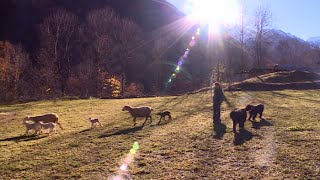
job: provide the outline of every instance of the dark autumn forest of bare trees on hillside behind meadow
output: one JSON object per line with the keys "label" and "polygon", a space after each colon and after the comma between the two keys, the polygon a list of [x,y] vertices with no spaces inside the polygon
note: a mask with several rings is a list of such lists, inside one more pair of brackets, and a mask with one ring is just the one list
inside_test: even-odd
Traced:
{"label": "dark autumn forest of bare trees on hillside behind meadow", "polygon": [[[23,39],[0,42],[1,101],[175,94],[209,86],[212,79],[239,80],[238,73],[251,68],[320,62],[319,47],[296,38],[274,43],[267,8],[257,9],[253,21],[243,16],[215,44],[202,28],[187,57],[196,24],[179,30],[172,20],[150,30],[108,6],[82,14],[60,6],[46,14],[33,27],[31,45]],[[181,59],[185,63],[171,80]]]}

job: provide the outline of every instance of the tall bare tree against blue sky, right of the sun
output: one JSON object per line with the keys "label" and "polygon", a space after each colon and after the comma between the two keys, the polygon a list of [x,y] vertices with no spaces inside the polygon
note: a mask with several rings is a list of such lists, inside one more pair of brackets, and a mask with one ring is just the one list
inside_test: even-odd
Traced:
{"label": "tall bare tree against blue sky, right of the sun", "polygon": [[261,67],[266,58],[271,17],[270,9],[267,6],[258,7],[254,14],[254,51],[257,67]]}

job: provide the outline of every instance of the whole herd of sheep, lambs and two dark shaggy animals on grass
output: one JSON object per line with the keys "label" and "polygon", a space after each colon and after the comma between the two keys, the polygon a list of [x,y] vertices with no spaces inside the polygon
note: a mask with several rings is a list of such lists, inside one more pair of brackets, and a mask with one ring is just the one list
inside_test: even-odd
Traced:
{"label": "whole herd of sheep, lambs and two dark shaggy animals on grass", "polygon": [[[143,106],[143,107],[131,107],[129,105],[126,105],[122,108],[122,111],[128,111],[131,116],[133,117],[133,126],[135,126],[136,118],[138,117],[145,117],[145,121],[143,122],[143,126],[146,123],[146,121],[150,118],[150,121],[152,122],[151,112],[153,109],[149,106]],[[262,118],[262,113],[264,111],[264,105],[258,104],[258,105],[247,105],[243,109],[235,109],[231,111],[230,118],[233,122],[233,132],[236,132],[236,125],[239,124],[239,128],[244,128],[244,123],[247,120],[247,111],[249,112],[249,118],[248,120],[253,119],[255,121],[255,118],[259,114],[260,119]],[[161,122],[161,120],[166,118],[166,116],[171,120],[171,113],[169,111],[159,112],[157,115],[160,116],[160,120],[158,124]],[[99,121],[98,118],[89,118],[89,122],[91,122],[91,129],[97,127],[97,125],[102,126],[102,123]],[[59,123],[59,116],[55,113],[50,114],[44,114],[41,116],[26,116],[23,119],[23,123],[26,127],[26,132],[24,135],[27,135],[31,130],[34,130],[34,134],[39,135],[43,131],[46,131],[47,134],[50,135],[51,132],[56,133],[56,125],[58,124],[61,129],[62,126]]]}

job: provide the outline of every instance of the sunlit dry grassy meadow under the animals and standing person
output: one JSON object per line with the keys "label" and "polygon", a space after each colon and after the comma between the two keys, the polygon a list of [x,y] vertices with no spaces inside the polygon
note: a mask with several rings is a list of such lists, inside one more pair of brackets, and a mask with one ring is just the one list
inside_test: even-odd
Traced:
{"label": "sunlit dry grassy meadow under the animals and standing person", "polygon": [[[319,179],[320,92],[226,92],[222,108],[227,132],[213,133],[209,93],[123,100],[40,101],[0,106],[0,179],[107,179],[130,163],[134,179]],[[264,103],[265,119],[232,133],[229,112],[247,103]],[[132,127],[121,108],[149,105],[153,122]],[[155,115],[170,110],[172,121],[157,125]],[[47,137],[21,136],[25,115],[56,112],[65,130]],[[102,128],[89,130],[89,117]],[[134,161],[128,154],[140,149]]]}

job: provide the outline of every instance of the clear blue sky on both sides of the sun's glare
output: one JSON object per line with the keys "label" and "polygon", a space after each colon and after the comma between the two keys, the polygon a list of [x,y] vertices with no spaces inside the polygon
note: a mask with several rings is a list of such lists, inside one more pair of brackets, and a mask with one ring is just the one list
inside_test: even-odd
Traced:
{"label": "clear blue sky on both sides of the sun's glare", "polygon": [[[167,1],[182,12],[186,12],[185,4],[190,0]],[[259,4],[268,6],[272,13],[274,29],[304,40],[320,36],[320,0],[245,0],[245,2],[249,12],[253,12]]]}

